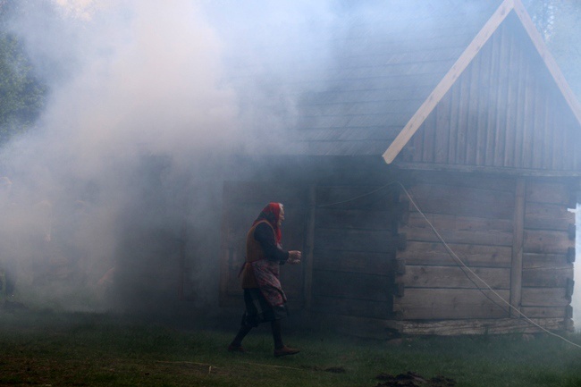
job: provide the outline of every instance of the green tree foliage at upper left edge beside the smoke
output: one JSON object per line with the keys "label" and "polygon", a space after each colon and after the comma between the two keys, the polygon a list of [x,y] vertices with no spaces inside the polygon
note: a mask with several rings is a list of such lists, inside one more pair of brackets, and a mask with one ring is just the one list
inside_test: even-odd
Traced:
{"label": "green tree foliage at upper left edge beside the smoke", "polygon": [[17,11],[17,2],[0,2],[0,144],[33,125],[46,97],[23,41],[9,28]]}

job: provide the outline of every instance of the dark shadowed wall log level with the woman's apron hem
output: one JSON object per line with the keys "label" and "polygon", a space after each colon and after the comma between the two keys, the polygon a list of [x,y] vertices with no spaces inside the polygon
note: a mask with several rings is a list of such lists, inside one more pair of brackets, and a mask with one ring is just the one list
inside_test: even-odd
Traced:
{"label": "dark shadowed wall log level with the woman's apron hem", "polygon": [[370,318],[391,318],[392,303],[378,302],[368,299],[340,299],[313,295],[312,311],[329,315],[353,315]]}

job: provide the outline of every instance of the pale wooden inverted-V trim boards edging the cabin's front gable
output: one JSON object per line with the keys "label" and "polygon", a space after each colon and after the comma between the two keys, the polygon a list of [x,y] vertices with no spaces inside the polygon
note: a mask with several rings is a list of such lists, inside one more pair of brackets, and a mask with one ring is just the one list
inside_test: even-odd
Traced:
{"label": "pale wooden inverted-V trim boards edging the cabin's front gable", "polygon": [[434,88],[434,91],[432,91],[430,96],[425,99],[424,103],[411,117],[403,130],[400,131],[400,134],[383,153],[383,159],[387,164],[391,164],[395,157],[400,154],[401,149],[408,143],[409,139],[411,139],[414,133],[416,133],[416,130],[421,126],[421,124],[425,122],[425,118],[432,113],[434,107],[440,102],[448,90],[450,90],[454,81],[459,78],[459,74],[467,68],[467,65],[476,57],[486,41],[493,35],[494,31],[499,28],[501,22],[505,20],[511,11],[514,11],[518,15],[518,20],[526,29],[526,33],[529,38],[531,38],[539,55],[543,58],[543,62],[546,64],[547,69],[551,73],[552,78],[555,80],[560,92],[563,94],[563,97],[565,97],[572,113],[575,114],[577,121],[581,122],[581,105],[579,105],[577,98],[568,87],[568,83],[560,72],[559,66],[553,59],[547,46],[544,44],[543,38],[535,28],[535,24],[529,17],[528,13],[526,13],[525,7],[520,0],[504,0],[496,12],[493,13],[493,16],[489,21],[487,21],[484,27],[478,32],[476,38],[472,40],[470,45],[467,46],[466,50],[464,50],[462,55],[460,55],[458,61],[454,63],[450,68],[450,71],[446,73],[438,86]]}

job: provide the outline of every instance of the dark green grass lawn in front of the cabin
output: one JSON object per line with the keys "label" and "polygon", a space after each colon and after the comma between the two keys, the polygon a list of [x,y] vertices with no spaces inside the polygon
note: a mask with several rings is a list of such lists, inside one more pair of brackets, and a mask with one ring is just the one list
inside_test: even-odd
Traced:
{"label": "dark green grass lawn in front of the cabin", "polygon": [[120,320],[0,310],[0,385],[375,387],[388,385],[378,375],[411,371],[452,380],[438,385],[581,386],[581,349],[551,336],[363,341],[296,330],[285,339],[301,353],[274,358],[267,325],[235,354],[225,350],[234,332]]}

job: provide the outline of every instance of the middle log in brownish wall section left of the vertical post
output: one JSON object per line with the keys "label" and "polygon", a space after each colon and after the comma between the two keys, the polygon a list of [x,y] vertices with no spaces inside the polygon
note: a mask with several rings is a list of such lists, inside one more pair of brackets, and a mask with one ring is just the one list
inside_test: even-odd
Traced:
{"label": "middle log in brownish wall section left of the vertical post", "polygon": [[[449,246],[470,267],[510,267],[512,247],[454,243]],[[458,265],[439,242],[408,240],[408,247],[398,251],[397,257],[405,259],[408,265]]]}

